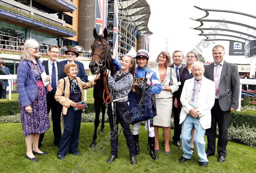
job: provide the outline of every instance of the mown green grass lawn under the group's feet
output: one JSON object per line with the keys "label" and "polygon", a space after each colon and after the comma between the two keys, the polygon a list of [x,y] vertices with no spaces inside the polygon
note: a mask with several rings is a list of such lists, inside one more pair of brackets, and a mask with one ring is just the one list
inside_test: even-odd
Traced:
{"label": "mown green grass lawn under the group's feet", "polygon": [[[51,124],[52,125],[52,124]],[[46,156],[38,156],[39,161],[32,162],[24,157],[26,153],[25,138],[22,135],[21,123],[0,124],[0,170],[1,172],[256,172],[256,149],[242,144],[229,142],[226,162],[218,162],[217,151],[215,156],[209,157],[206,168],[199,167],[199,157],[196,154],[192,159],[180,163],[179,158],[183,152],[170,142],[171,154],[164,154],[162,147],[162,132],[159,130],[160,153],[156,153],[158,160],[150,158],[147,151],[147,131],[140,127],[140,155],[137,156],[137,165],[130,164],[129,151],[121,132],[119,136],[119,158],[112,163],[106,160],[110,157],[111,147],[108,132],[109,124],[105,124],[104,134],[98,134],[96,143],[98,150],[89,146],[92,141],[94,123],[81,123],[80,138],[78,144],[79,156],[67,154],[65,159],[57,158],[58,147],[53,142],[52,127],[45,133],[41,151],[48,152]],[[98,130],[99,131],[99,130]],[[173,135],[173,130],[172,134]],[[205,136],[205,141],[206,136]],[[105,143],[104,143],[105,142]],[[109,143],[108,143],[109,142]],[[94,152],[94,154],[93,154]],[[90,163],[88,163],[90,162]],[[80,170],[76,165],[79,165]],[[76,170],[75,170],[76,169]]]}

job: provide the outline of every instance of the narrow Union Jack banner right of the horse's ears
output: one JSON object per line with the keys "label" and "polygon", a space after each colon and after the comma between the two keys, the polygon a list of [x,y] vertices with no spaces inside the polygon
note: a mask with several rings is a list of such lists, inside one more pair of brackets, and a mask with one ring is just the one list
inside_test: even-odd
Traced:
{"label": "narrow Union Jack banner right of the horse's ears", "polygon": [[118,5],[119,1],[115,0],[114,2],[114,36],[113,36],[113,55],[118,53]]}

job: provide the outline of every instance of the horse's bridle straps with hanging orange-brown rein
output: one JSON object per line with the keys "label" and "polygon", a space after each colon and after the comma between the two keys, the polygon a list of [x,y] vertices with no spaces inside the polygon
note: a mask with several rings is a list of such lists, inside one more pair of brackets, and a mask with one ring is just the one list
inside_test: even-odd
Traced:
{"label": "horse's bridle straps with hanging orange-brown rein", "polygon": [[[99,39],[95,39],[94,42],[95,41],[99,41]],[[106,40],[102,40],[102,41],[107,42]],[[100,68],[100,70],[103,70],[103,71],[106,71],[106,60],[108,59],[108,51],[109,51],[108,48],[109,47],[107,46],[106,53],[105,53],[105,55],[103,57],[101,55],[99,55],[98,53],[92,54],[92,56],[93,55],[98,55],[102,59],[101,64],[99,65],[99,68]],[[105,63],[105,64],[103,65],[103,63]],[[108,74],[109,73],[110,73],[110,70],[108,70]],[[108,74],[107,74],[107,76],[108,76]],[[104,83],[103,101],[104,101],[104,104],[108,104],[108,103],[111,102],[111,97],[110,97],[110,93],[109,93],[109,90],[108,90],[108,79],[107,79],[106,75],[103,76],[103,83]],[[104,93],[107,94],[106,98],[104,97]]]}

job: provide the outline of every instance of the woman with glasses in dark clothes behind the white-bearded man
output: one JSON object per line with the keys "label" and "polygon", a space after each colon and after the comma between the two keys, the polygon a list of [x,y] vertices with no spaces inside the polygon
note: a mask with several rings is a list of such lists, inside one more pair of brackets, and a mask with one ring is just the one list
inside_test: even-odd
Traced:
{"label": "woman with glasses in dark clothes behind the white-bearded man", "polygon": [[[181,85],[180,85],[179,90],[177,92],[178,95],[174,96],[175,97],[174,106],[178,108],[179,118],[180,118],[180,111],[181,111],[181,108],[182,108],[182,104],[180,102],[181,92],[182,92],[185,81],[194,77],[193,73],[192,73],[192,64],[195,61],[198,61],[197,53],[195,53],[195,52],[187,53],[187,56],[184,58],[184,60],[186,61],[186,66],[181,71],[181,75],[180,75]],[[190,144],[191,144],[190,149],[192,150],[192,152],[194,151],[194,145],[193,145],[194,131],[195,131],[195,129],[193,128],[192,131],[191,131],[192,138],[190,139]],[[181,147],[180,147],[180,150],[181,150]]]}

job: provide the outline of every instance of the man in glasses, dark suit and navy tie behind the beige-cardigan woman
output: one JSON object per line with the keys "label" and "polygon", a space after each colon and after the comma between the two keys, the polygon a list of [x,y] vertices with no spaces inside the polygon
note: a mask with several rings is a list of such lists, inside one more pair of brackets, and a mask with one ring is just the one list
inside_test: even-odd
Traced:
{"label": "man in glasses, dark suit and navy tie behind the beige-cardigan woman", "polygon": [[[45,67],[45,73],[50,75],[51,80],[50,84],[52,87],[51,91],[48,91],[46,95],[47,101],[47,112],[49,114],[50,110],[52,110],[52,129],[54,135],[53,143],[59,146],[59,142],[61,139],[61,125],[60,125],[60,117],[62,108],[58,105],[57,101],[54,98],[56,89],[58,87],[58,81],[64,77],[66,74],[64,73],[64,64],[59,63],[57,61],[59,56],[59,47],[58,46],[50,46],[48,50],[49,59],[42,63]],[[42,141],[44,138],[44,133],[40,134],[38,147],[42,145]]]}

